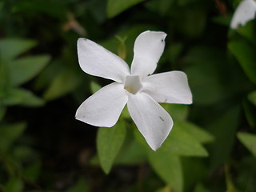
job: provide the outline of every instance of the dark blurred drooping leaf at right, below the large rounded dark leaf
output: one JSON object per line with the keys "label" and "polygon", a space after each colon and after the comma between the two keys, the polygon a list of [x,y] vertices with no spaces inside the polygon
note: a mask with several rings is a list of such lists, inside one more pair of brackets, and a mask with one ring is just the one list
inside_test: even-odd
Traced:
{"label": "dark blurred drooping leaf at right, below the large rounded dark leaf", "polygon": [[[218,117],[214,118],[212,122],[206,125],[212,135],[214,135],[214,142],[210,144],[210,168],[215,169],[226,161],[233,146],[235,130],[238,127],[240,108],[233,106],[225,110]],[[221,150],[220,150],[221,149]]]}

